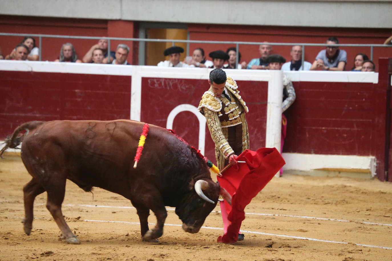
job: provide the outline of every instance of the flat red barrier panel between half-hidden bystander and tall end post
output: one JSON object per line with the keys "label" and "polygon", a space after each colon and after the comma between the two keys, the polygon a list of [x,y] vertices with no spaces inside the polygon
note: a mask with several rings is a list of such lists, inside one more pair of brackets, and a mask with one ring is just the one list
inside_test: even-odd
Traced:
{"label": "flat red barrier panel between half-hidden bystander and tall end post", "polygon": [[385,93],[373,83],[294,82],[294,88],[283,152],[373,155],[376,122],[385,117],[374,105],[385,104]]}

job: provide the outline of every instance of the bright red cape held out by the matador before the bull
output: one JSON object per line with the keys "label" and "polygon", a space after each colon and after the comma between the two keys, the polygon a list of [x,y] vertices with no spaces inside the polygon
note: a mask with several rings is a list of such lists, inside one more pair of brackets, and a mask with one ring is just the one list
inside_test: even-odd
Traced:
{"label": "bright red cape held out by the matador before the bull", "polygon": [[[222,173],[222,177],[218,176],[221,187],[232,196],[232,205],[224,201],[222,206],[222,210],[225,209],[227,212],[229,221],[225,234],[219,236],[217,240],[223,243],[237,241],[238,231],[245,219],[245,207],[285,164],[285,160],[276,148],[260,148],[257,151],[247,149],[236,160],[246,163],[239,162],[237,165],[230,166]],[[222,212],[223,223],[227,223],[225,216],[226,213]]]}

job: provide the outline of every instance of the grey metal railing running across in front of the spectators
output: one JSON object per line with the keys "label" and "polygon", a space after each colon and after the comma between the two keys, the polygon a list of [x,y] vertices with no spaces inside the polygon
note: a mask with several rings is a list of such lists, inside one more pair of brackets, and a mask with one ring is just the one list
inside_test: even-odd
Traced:
{"label": "grey metal railing running across in front of the spectators", "polygon": [[[220,44],[232,44],[236,45],[237,59],[236,67],[238,65],[238,52],[240,51],[239,45],[279,45],[279,46],[294,46],[300,45],[302,47],[302,61],[305,61],[305,46],[321,46],[325,47],[326,43],[265,43],[265,42],[244,42],[244,41],[202,41],[202,40],[175,40],[175,39],[147,39],[147,38],[120,38],[120,37],[98,37],[98,36],[72,36],[72,35],[53,35],[53,34],[14,34],[0,32],[0,36],[31,36],[38,37],[39,46],[42,46],[42,38],[67,38],[67,39],[91,39],[99,40],[106,39],[108,41],[108,54],[110,54],[110,41],[138,41],[138,42],[171,42],[174,43],[220,43]],[[328,46],[350,46],[350,47],[370,47],[370,60],[373,60],[373,48],[374,47],[392,47],[392,45],[384,44],[328,44]],[[39,52],[39,61],[42,60],[41,51]],[[187,48],[187,56],[189,55],[189,48]],[[109,61],[109,59],[108,59]],[[301,67],[303,66],[303,63]]]}

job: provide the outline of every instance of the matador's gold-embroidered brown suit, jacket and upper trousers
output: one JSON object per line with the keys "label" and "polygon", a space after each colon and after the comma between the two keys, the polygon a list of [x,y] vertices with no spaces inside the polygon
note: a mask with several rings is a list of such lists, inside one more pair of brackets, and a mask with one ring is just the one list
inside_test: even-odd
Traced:
{"label": "matador's gold-embroidered brown suit, jacket and upper trousers", "polygon": [[248,107],[240,96],[236,81],[227,77],[225,87],[231,100],[215,97],[210,88],[201,97],[198,109],[205,115],[211,138],[215,143],[215,157],[221,170],[231,154],[239,155],[249,149],[249,131],[245,119]]}

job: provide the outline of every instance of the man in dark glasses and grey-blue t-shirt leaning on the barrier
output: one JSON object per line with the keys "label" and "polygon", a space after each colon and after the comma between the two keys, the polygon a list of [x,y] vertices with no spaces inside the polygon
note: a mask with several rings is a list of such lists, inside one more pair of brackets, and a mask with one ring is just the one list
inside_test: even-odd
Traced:
{"label": "man in dark glasses and grey-blue t-shirt leaning on the barrier", "polygon": [[347,52],[340,50],[338,46],[331,46],[338,43],[338,38],[328,38],[326,49],[318,53],[310,70],[343,71],[347,63]]}

